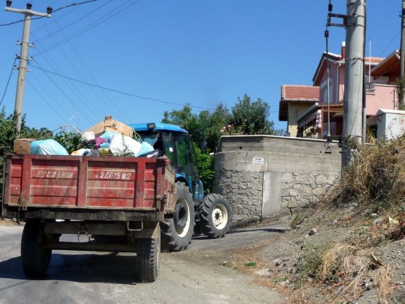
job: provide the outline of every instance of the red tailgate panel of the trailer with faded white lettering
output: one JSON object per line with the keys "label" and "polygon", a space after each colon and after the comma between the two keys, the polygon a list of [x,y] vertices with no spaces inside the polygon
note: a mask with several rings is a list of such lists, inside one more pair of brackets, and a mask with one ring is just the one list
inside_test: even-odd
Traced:
{"label": "red tailgate panel of the trailer with faded white lettering", "polygon": [[3,205],[22,210],[155,210],[165,195],[163,158],[13,154],[5,165]]}

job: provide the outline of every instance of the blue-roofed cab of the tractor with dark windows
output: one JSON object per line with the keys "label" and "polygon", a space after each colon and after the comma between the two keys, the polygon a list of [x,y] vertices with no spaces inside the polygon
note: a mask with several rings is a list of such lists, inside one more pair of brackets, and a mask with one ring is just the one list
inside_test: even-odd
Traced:
{"label": "blue-roofed cab of the tractor with dark windows", "polygon": [[189,133],[174,124],[129,124],[143,141],[152,145],[154,155],[165,155],[175,169],[176,180],[189,187],[194,204],[204,197],[198,176],[196,154]]}

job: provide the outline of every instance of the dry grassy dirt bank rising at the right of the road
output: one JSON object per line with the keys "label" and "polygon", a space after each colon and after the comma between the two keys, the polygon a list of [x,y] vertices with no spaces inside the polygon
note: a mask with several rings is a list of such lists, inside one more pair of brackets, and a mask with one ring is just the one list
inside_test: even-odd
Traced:
{"label": "dry grassy dirt bank rising at the right of the road", "polygon": [[286,303],[405,303],[405,138],[361,147],[332,194],[231,266]]}

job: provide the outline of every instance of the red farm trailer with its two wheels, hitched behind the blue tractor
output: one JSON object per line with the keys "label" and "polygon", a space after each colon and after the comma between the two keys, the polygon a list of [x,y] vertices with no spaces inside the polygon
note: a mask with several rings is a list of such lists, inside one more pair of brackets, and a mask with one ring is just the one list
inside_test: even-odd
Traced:
{"label": "red farm trailer with its two wheels, hitched behind the blue tractor", "polygon": [[[30,277],[45,275],[52,249],[136,252],[136,278],[159,273],[159,222],[174,211],[168,159],[13,154],[3,168],[2,217],[24,219],[21,256]],[[62,234],[89,242],[61,242]]]}

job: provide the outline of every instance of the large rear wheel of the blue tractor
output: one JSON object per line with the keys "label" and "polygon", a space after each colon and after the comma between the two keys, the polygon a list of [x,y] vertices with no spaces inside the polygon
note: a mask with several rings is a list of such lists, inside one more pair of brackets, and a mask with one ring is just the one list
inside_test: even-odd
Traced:
{"label": "large rear wheel of the blue tractor", "polygon": [[169,251],[181,251],[189,245],[194,230],[194,204],[189,187],[176,182],[175,215],[161,223],[162,242]]}

